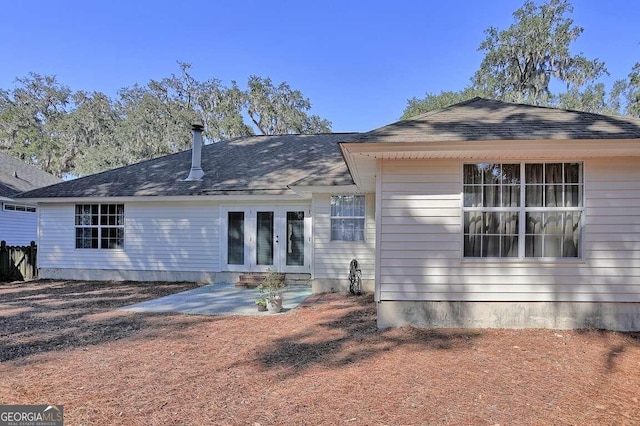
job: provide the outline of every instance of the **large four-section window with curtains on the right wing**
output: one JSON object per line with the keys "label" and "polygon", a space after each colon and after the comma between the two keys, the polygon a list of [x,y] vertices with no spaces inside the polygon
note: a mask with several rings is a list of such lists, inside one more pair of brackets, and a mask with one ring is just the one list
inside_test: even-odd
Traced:
{"label": "large four-section window with curtains on the right wing", "polygon": [[582,163],[465,164],[465,258],[580,258]]}

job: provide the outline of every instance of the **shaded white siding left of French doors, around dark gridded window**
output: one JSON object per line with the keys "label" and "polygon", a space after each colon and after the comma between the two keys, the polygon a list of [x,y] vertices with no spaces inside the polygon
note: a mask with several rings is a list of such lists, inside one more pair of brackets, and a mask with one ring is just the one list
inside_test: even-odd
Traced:
{"label": "shaded white siding left of French doors, around dark gridded window", "polygon": [[220,269],[220,209],[214,203],[125,203],[124,250],[76,249],[74,209],[40,207],[40,268]]}

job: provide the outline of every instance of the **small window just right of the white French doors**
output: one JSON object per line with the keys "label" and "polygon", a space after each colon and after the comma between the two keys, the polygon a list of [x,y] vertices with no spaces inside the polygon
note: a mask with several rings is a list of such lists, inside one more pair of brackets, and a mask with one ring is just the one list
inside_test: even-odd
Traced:
{"label": "small window just right of the white French doors", "polygon": [[331,196],[331,240],[364,241],[364,195]]}

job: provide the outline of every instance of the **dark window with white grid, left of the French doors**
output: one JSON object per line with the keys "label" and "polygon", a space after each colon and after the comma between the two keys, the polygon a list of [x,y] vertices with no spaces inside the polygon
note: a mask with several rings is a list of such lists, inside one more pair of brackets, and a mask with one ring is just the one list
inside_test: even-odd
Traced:
{"label": "dark window with white grid, left of the French doors", "polygon": [[124,248],[124,204],[76,204],[76,248]]}

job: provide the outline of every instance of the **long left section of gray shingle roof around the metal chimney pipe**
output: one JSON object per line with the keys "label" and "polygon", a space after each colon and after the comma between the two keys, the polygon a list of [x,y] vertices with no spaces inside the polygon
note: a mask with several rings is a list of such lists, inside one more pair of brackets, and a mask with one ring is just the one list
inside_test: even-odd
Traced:
{"label": "long left section of gray shingle roof around the metal chimney pipe", "polygon": [[[21,198],[287,194],[298,181],[353,183],[339,142],[356,133],[246,136],[205,145],[201,181],[188,181],[191,150],[62,182]],[[305,183],[309,184],[309,183]]]}

